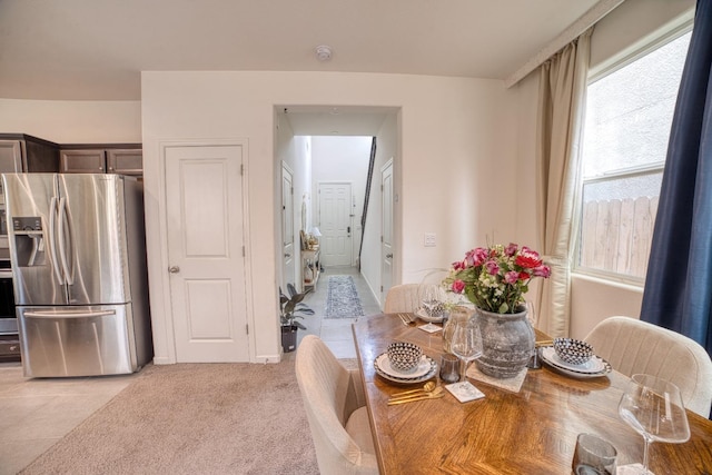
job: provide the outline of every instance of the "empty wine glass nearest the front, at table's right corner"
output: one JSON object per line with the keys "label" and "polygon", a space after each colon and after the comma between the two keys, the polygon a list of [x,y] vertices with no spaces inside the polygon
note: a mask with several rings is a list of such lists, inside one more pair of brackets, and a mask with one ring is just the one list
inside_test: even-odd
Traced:
{"label": "empty wine glass nearest the front, at table's right corner", "polygon": [[643,436],[643,467],[640,474],[652,474],[647,469],[647,449],[652,442],[679,444],[690,438],[688,414],[680,389],[656,376],[631,377],[619,404],[619,415]]}

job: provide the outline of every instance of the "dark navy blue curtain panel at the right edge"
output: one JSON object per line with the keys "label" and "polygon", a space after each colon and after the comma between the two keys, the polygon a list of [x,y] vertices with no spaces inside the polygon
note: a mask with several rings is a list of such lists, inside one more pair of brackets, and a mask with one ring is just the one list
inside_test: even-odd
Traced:
{"label": "dark navy blue curtain panel at the right edge", "polygon": [[641,319],[712,355],[712,0],[699,0],[673,116]]}

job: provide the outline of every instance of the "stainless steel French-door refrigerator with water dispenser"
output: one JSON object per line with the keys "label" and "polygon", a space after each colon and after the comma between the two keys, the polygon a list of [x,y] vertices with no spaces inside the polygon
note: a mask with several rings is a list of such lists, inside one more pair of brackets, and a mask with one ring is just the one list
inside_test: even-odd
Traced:
{"label": "stainless steel French-door refrigerator with water dispenser", "polygon": [[3,174],[24,376],[128,374],[152,357],[142,184]]}

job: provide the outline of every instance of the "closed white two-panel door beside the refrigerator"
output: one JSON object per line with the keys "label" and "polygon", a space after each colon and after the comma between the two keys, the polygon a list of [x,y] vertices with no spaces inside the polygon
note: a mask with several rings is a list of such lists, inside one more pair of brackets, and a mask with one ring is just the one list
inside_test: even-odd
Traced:
{"label": "closed white two-panel door beside the refrigerator", "polygon": [[178,363],[249,360],[241,165],[240,146],[166,148]]}

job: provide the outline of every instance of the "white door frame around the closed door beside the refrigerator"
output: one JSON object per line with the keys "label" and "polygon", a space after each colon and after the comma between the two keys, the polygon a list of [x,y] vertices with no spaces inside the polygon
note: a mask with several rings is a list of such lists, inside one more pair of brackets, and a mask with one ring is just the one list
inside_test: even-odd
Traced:
{"label": "white door frame around the closed door beside the refrigerator", "polygon": [[[159,230],[160,230],[160,261],[161,271],[158,276],[150,276],[151,279],[160,280],[162,306],[165,314],[162,317],[165,335],[159,342],[166,345],[164,349],[167,356],[164,358],[155,358],[155,363],[158,364],[175,364],[176,363],[176,340],[175,340],[175,327],[172,320],[172,304],[170,295],[170,278],[168,274],[169,257],[168,257],[168,205],[166,202],[166,149],[170,147],[209,147],[209,146],[239,146],[243,148],[243,219],[245,220],[243,228],[243,241],[245,243],[245,297],[247,307],[247,323],[250,331],[247,335],[249,339],[249,358],[251,363],[256,363],[256,339],[255,339],[255,307],[253,303],[253,270],[250,259],[250,229],[249,229],[249,149],[247,139],[196,139],[196,140],[161,140],[159,141],[159,170],[158,176],[158,209],[159,209]],[[157,296],[158,297],[158,296]],[[151,317],[154,320],[155,317]],[[154,331],[158,328],[154,327]],[[154,338],[156,343],[157,339]],[[156,353],[156,352],[155,352]]]}

